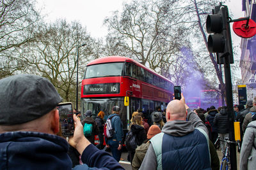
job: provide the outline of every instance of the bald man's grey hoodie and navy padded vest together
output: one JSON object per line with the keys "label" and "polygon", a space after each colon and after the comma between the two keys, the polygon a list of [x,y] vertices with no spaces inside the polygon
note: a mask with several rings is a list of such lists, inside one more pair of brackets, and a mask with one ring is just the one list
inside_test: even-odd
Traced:
{"label": "bald man's grey hoodie and navy padded vest together", "polygon": [[[162,132],[150,139],[152,143],[150,143],[140,169],[161,169],[162,164],[163,169],[167,164],[172,164],[172,168],[175,166],[177,169],[183,169],[183,167],[211,169],[207,128],[190,109],[188,109],[187,119],[188,121],[174,120],[164,124]],[[200,132],[198,129],[201,129]],[[204,134],[201,131],[204,131]],[[162,143],[157,142],[157,139],[163,139]],[[200,144],[196,145],[198,141]],[[195,143],[196,146],[191,147],[191,143]],[[156,155],[157,150],[154,147],[156,145],[161,147],[160,155]],[[177,145],[179,147],[175,148]],[[180,156],[171,157],[170,152]],[[161,157],[160,161],[159,157]]]}

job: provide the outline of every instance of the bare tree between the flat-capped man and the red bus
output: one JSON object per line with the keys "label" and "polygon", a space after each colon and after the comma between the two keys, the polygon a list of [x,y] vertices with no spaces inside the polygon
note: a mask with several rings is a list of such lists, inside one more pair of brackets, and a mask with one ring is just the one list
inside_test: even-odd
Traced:
{"label": "bare tree between the flat-capped man and the red bus", "polygon": [[79,48],[79,80],[81,80],[84,74],[81,68],[84,70],[90,60],[88,55],[90,55],[91,41],[85,29],[77,22],[68,24],[65,20],[57,20],[50,25],[44,25],[38,39],[30,43],[26,52],[22,53],[22,57],[29,64],[26,71],[48,78],[65,101],[74,102],[77,46],[86,43]]}

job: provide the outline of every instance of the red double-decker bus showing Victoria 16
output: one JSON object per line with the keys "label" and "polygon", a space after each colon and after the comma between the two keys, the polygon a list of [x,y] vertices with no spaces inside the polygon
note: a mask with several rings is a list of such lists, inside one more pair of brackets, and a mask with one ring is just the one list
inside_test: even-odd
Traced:
{"label": "red double-decker bus showing Victoria 16", "polygon": [[120,106],[124,131],[133,111],[141,111],[150,123],[150,114],[162,109],[173,98],[173,83],[139,62],[127,57],[102,57],[86,66],[81,88],[82,113],[92,110],[93,118],[104,111],[105,119],[113,106]]}

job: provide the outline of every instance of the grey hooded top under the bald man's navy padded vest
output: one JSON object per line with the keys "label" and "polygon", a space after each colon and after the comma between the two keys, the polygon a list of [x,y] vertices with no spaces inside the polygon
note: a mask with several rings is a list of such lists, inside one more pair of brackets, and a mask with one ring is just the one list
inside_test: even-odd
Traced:
{"label": "grey hooded top under the bald man's navy padded vest", "polygon": [[[174,120],[166,122],[162,129],[162,132],[170,134],[172,136],[185,136],[186,134],[193,132],[196,127],[203,129],[208,134],[207,127],[205,127],[202,120],[200,120],[196,113],[194,113],[190,109],[188,109],[187,119],[188,121]],[[140,169],[156,169],[156,167],[156,153],[154,152],[153,146],[150,144]]]}

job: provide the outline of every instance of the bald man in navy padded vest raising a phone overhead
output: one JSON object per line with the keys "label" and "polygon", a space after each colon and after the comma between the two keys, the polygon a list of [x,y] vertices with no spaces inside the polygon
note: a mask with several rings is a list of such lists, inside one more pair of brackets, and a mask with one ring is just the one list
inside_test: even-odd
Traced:
{"label": "bald man in navy padded vest raising a phone overhead", "polygon": [[140,169],[211,169],[207,128],[181,96],[168,104],[167,122],[150,139]]}

